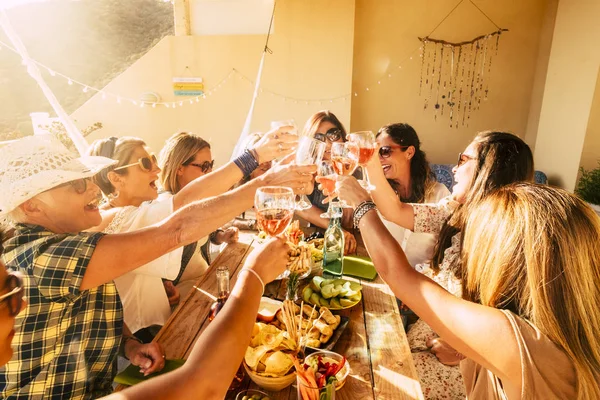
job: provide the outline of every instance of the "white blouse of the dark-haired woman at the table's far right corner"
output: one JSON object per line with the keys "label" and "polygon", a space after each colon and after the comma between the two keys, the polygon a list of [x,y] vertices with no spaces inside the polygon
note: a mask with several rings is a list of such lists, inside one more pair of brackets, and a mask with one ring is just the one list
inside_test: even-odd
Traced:
{"label": "white blouse of the dark-haired woman at the table's far right corner", "polygon": [[[450,195],[448,188],[437,182],[431,194],[425,199],[425,203],[437,203]],[[410,265],[415,268],[417,264],[428,263],[433,256],[433,248],[437,235],[428,232],[412,232],[394,222],[388,221],[383,216],[381,221],[390,231],[394,239],[400,244],[406,253]]]}

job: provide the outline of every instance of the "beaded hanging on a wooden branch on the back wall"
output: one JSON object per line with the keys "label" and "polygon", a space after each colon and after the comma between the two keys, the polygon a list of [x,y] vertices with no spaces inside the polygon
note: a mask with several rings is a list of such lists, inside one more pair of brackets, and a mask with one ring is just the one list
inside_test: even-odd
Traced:
{"label": "beaded hanging on a wooden branch on the back wall", "polygon": [[419,95],[425,97],[423,109],[433,111],[436,121],[438,115],[447,117],[454,128],[468,126],[471,114],[488,99],[494,57],[498,55],[502,33],[508,31],[500,28],[472,0],[469,2],[496,26],[496,31],[459,43],[432,39],[431,33],[419,38],[422,43]]}

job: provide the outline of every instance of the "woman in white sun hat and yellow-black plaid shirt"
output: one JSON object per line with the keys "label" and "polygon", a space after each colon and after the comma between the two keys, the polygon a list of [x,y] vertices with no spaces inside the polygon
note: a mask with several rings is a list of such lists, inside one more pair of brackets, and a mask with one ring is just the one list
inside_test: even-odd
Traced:
{"label": "woman in white sun hat and yellow-black plaid shirt", "polygon": [[[82,233],[101,222],[100,191],[89,178],[113,163],[75,158],[51,136],[0,148],[0,217],[16,224],[14,237],[4,243],[3,261],[24,275],[29,302],[16,319],[13,358],[0,369],[3,398],[80,399],[109,392],[122,331],[112,280],[232,219],[265,182],[257,179],[191,203],[141,231]],[[314,166],[277,169],[290,187],[306,186],[314,172]],[[253,274],[243,275],[246,284],[256,280],[254,272],[263,281],[275,277],[276,269],[263,267],[252,264]],[[149,367],[162,365],[162,359],[153,359]]]}

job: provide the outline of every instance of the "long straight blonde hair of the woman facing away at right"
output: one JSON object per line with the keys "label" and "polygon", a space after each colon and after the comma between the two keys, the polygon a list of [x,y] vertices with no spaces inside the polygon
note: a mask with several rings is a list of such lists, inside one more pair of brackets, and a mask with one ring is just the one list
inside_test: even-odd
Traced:
{"label": "long straight blonde hair of the woman facing away at right", "polygon": [[467,300],[531,321],[573,361],[577,398],[600,399],[600,218],[578,197],[521,183],[487,196],[463,232]]}

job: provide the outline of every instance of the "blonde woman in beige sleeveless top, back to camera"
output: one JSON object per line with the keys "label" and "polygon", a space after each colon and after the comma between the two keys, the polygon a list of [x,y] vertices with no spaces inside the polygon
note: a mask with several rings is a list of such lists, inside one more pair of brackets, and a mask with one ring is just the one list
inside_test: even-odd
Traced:
{"label": "blonde woman in beige sleeveless top, back to camera", "polygon": [[[356,186],[342,184],[340,197],[358,205]],[[474,204],[462,230],[463,299],[410,267],[374,209],[357,224],[375,267],[466,356],[468,398],[600,398],[600,218],[585,202],[521,183]]]}

